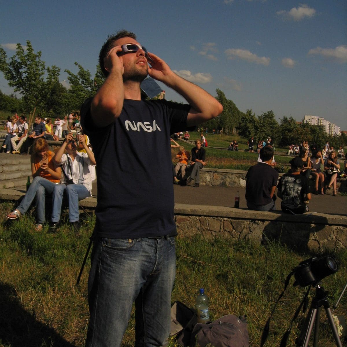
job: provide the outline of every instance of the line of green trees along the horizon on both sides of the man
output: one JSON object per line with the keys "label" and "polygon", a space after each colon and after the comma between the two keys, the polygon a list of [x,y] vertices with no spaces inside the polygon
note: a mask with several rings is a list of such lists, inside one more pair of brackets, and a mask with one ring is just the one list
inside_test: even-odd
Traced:
{"label": "line of green trees along the horizon on both sides of the man", "polygon": [[[0,46],[0,71],[8,85],[14,87],[14,92],[21,96],[17,98],[16,94],[6,95],[0,91],[1,109],[27,115],[35,109],[36,115],[45,117],[78,111],[84,100],[93,96],[102,85],[104,76],[99,66],[92,77],[80,64],[75,62],[75,65],[78,67],[77,74],[64,70],[70,85],[67,89],[59,82],[60,68],[55,65],[46,67],[41,60],[41,52],[35,53],[30,41],[26,42],[26,51],[17,43],[16,53],[11,58]],[[216,99],[223,105],[223,112],[199,127],[223,129],[225,134],[238,134],[246,138],[254,136],[258,141],[270,136],[280,147],[299,144],[304,140],[318,147],[322,147],[326,141],[336,148],[347,144],[345,134],[328,136],[320,127],[298,124],[293,117],[285,116],[279,124],[273,111],[264,112],[260,116],[255,116],[252,109],[244,113],[220,89],[216,93]]]}

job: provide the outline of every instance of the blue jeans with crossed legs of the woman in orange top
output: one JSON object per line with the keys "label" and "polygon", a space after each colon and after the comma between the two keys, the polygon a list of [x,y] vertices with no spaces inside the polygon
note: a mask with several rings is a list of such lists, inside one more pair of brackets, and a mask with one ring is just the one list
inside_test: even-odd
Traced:
{"label": "blue jeans with crossed legs of the woman in orange top", "polygon": [[[17,210],[24,214],[34,198],[36,197],[36,218],[37,222],[43,224],[45,219],[45,199],[46,193],[51,194],[53,189],[58,186],[57,184],[51,182],[43,177],[35,177],[26,192],[22,202],[17,207]],[[54,206],[52,206],[52,218],[54,215]]]}

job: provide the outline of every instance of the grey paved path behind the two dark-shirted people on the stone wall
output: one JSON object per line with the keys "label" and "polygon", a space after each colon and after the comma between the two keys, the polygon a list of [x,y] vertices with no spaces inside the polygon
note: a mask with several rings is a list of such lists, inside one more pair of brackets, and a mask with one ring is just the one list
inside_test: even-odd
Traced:
{"label": "grey paved path behind the two dark-shirted people on the stone wall", "polygon": [[[245,199],[245,188],[224,188],[212,186],[200,186],[194,188],[187,185],[181,187],[174,185],[175,203],[190,205],[212,205],[234,207],[236,191],[240,192],[240,210],[247,209]],[[277,190],[276,190],[277,193]],[[276,194],[275,193],[275,194]],[[329,213],[329,214],[347,214],[347,196],[332,196],[332,189],[325,195],[311,194],[312,198],[308,207],[310,212]],[[275,202],[274,210],[281,211],[281,199]]]}

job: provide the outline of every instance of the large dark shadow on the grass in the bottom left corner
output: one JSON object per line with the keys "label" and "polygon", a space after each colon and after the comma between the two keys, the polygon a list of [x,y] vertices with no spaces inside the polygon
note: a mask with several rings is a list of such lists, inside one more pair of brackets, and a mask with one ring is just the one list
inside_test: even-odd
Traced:
{"label": "large dark shadow on the grass in the bottom left corner", "polygon": [[24,310],[14,287],[0,283],[0,345],[11,347],[75,347],[53,328]]}

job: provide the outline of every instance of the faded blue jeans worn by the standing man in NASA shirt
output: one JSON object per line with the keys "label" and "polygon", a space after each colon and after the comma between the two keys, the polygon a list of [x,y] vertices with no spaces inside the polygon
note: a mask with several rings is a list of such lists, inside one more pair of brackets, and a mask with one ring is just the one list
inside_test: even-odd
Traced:
{"label": "faded blue jeans worn by the standing man in NASA shirt", "polygon": [[175,272],[175,237],[95,238],[86,347],[120,346],[134,301],[135,346],[166,345]]}

